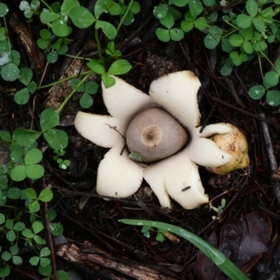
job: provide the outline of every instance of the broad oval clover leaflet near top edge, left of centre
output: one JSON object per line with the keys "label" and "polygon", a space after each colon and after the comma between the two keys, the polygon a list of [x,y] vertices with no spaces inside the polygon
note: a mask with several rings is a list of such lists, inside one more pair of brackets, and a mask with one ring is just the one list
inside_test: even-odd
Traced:
{"label": "broad oval clover leaflet near top edge, left of centre", "polygon": [[87,8],[82,6],[72,8],[69,12],[69,17],[71,18],[73,24],[78,28],[90,27],[90,25],[92,25],[95,20],[92,13],[90,13]]}

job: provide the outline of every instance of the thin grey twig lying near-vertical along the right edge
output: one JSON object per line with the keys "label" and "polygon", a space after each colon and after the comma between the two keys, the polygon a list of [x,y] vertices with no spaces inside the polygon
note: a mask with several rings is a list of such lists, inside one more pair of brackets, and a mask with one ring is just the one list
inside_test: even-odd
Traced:
{"label": "thin grey twig lying near-vertical along the right edge", "polygon": [[[262,118],[265,118],[265,114],[260,113],[260,116]],[[265,122],[260,122],[260,125],[262,126],[262,132],[263,136],[265,137],[265,146],[267,148],[267,154],[270,162],[270,167],[272,169],[272,172],[278,169],[274,151],[273,151],[273,146],[272,146],[272,140],[270,138],[269,130],[268,130],[268,125]],[[274,183],[274,194],[276,197],[276,200],[278,202],[278,205],[280,205],[280,183],[276,179],[272,179],[272,182]]]}

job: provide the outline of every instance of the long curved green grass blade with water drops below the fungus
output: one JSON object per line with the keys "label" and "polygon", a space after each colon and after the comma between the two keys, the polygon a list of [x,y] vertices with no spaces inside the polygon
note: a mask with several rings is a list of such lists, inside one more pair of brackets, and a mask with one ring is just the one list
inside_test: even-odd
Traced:
{"label": "long curved green grass blade with water drops below the fungus", "polygon": [[183,230],[183,228],[169,225],[167,223],[160,223],[155,221],[143,221],[143,220],[120,220],[121,223],[128,225],[148,225],[153,228],[159,228],[160,230],[168,230],[184,239],[190,241],[190,243],[197,246],[205,255],[207,255],[218,267],[231,279],[231,280],[248,280],[248,278],[236,267],[228,258],[225,257],[221,251],[204,241],[197,235]]}

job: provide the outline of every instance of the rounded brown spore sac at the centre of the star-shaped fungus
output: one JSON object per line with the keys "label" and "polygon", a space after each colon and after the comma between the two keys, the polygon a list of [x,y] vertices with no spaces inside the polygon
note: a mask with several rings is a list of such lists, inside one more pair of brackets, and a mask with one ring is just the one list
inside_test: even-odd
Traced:
{"label": "rounded brown spore sac at the centre of the star-shaped fungus", "polygon": [[188,134],[167,111],[158,108],[139,113],[127,127],[127,147],[139,153],[144,162],[162,160],[186,145]]}

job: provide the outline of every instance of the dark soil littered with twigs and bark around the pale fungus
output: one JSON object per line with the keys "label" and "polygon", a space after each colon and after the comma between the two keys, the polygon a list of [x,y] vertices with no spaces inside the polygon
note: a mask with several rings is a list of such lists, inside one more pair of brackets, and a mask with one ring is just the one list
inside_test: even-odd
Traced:
{"label": "dark soil littered with twigs and bark around the pale fungus", "polygon": [[[10,17],[15,12],[19,21],[30,31],[29,39],[32,40],[32,51],[36,57],[44,55],[36,48],[38,31],[43,27],[36,21],[27,23],[22,12],[16,8],[18,1],[8,1],[9,5],[12,2],[15,10],[11,8],[7,17],[9,36],[13,48],[21,54],[22,66],[34,71],[37,84],[42,78],[42,85],[56,81],[68,69],[71,59],[60,57],[59,62],[48,65],[44,59],[33,63],[35,61],[27,54],[19,34],[10,26]],[[92,9],[95,1],[80,2]],[[73,279],[195,279],[193,269],[198,251],[195,246],[182,239],[179,242],[176,239],[159,242],[155,239],[155,232],[147,239],[141,233],[141,227],[127,226],[118,220],[132,218],[171,223],[207,239],[211,232],[215,231],[219,235],[229,217],[239,219],[253,211],[261,211],[272,222],[272,237],[267,244],[265,257],[247,275],[258,280],[279,279],[279,177],[277,174],[273,177],[275,166],[271,164],[272,158],[276,162],[280,160],[279,107],[268,106],[264,99],[254,101],[248,96],[248,89],[252,85],[262,83],[257,59],[235,68],[230,76],[221,76],[221,56],[227,54],[220,48],[207,50],[203,43],[205,34],[197,30],[191,31],[180,42],[158,41],[155,29],[159,23],[152,16],[153,7],[158,1],[140,2],[141,13],[132,26],[121,29],[117,39],[123,57],[133,65],[130,73],[122,78],[148,92],[151,81],[165,73],[183,69],[193,71],[202,82],[198,95],[202,124],[228,122],[239,127],[248,139],[251,164],[247,169],[225,175],[209,174],[200,167],[204,188],[212,204],[218,207],[222,198],[226,200],[225,209],[218,219],[213,218],[217,214],[210,211],[207,205],[185,210],[173,202],[172,211],[162,209],[145,182],[132,197],[104,200],[97,195],[95,184],[97,167],[107,149],[83,139],[73,127],[77,111],[106,114],[102,91],[99,90],[94,96],[94,105],[88,110],[80,107],[79,94],[76,94],[62,111],[59,127],[69,135],[69,146],[64,158],[71,160],[71,166],[66,171],[59,169],[52,160],[52,151],[47,148],[43,160],[44,178],[35,183],[26,182],[26,186],[36,190],[41,190],[43,186],[52,187],[55,197],[48,208],[57,211],[57,221],[64,227],[64,237],[69,244],[75,245],[72,250],[76,258],[69,260],[65,256],[55,257],[57,269],[69,271],[71,275],[76,272]],[[69,52],[73,55],[89,41],[94,41],[92,29],[80,31],[73,27],[71,37],[74,41]],[[126,38],[130,44],[125,43]],[[106,45],[106,38],[102,36],[101,40],[102,45]],[[276,57],[278,51],[278,45],[272,45],[269,56]],[[83,49],[82,55],[94,57],[96,50]],[[265,69],[268,71],[269,65],[265,64]],[[49,89],[36,92],[27,105],[20,106],[13,99],[14,92],[20,87],[19,82],[4,83],[1,80],[1,130],[13,133],[16,127],[30,128],[31,123],[35,130],[39,130],[38,117],[45,109]],[[64,89],[62,92],[69,93]],[[57,100],[52,99],[52,102],[61,102],[60,99],[64,97],[59,94],[57,92]],[[268,130],[263,130],[262,123],[267,124]],[[267,139],[272,142],[271,155],[267,151]],[[39,143],[39,146],[46,147],[44,142]],[[42,210],[43,216],[46,209]],[[56,242],[51,245],[55,252],[59,250]],[[28,260],[28,252],[23,253],[22,258],[25,255]],[[25,267],[11,266],[11,269],[8,279],[41,279],[27,261]]]}

